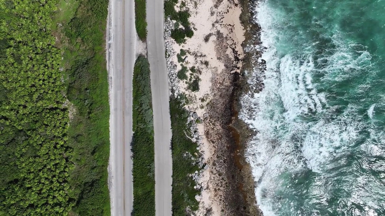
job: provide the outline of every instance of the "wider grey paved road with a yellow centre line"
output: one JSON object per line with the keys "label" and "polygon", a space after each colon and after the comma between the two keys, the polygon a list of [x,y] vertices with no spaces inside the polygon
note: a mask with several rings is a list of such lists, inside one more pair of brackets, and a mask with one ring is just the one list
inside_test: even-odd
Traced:
{"label": "wider grey paved road with a yellow centre line", "polygon": [[[110,1],[109,38],[111,54],[109,73],[112,76],[110,101],[110,145],[112,153],[112,216],[130,216],[132,211],[132,74],[135,63],[134,0]],[[111,70],[112,69],[112,70]]]}

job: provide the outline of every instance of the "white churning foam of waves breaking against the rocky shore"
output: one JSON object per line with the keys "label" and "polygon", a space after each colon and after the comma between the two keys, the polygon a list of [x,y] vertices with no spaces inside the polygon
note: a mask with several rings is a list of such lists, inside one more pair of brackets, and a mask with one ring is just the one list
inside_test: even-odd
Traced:
{"label": "white churning foam of waves breaking against the rocky shore", "polygon": [[[317,91],[318,84],[313,83],[312,76],[315,70],[325,75],[321,78],[325,83],[329,80],[345,80],[354,75],[353,69],[367,69],[371,56],[366,51],[356,52],[360,45],[346,45],[342,35],[337,32],[331,38],[336,45],[336,52],[323,57],[327,61],[326,66],[316,69],[313,53],[281,55],[275,48],[281,37],[280,25],[276,20],[287,18],[282,12],[273,11],[266,2],[261,2],[256,14],[255,19],[261,25],[262,41],[257,49],[266,48],[261,57],[266,60],[264,89],[243,96],[243,109],[239,116],[250,128],[258,131],[249,143],[247,158],[258,182],[255,189],[257,203],[264,215],[274,216],[273,209],[277,204],[274,197],[275,192],[281,189],[282,173],[311,169],[323,174],[325,169],[335,166],[333,160],[340,158],[340,165],[347,163],[343,156],[359,138],[358,132],[363,128],[359,121],[361,117],[355,113],[356,107],[348,107],[337,119],[329,118],[338,107],[329,106],[326,99],[328,95]],[[309,47],[316,44],[310,42]],[[311,52],[310,48],[308,52]],[[357,53],[360,54],[358,57]],[[256,77],[262,77],[259,71],[249,73],[252,74],[249,80],[251,85],[256,83]],[[310,114],[321,116],[320,120],[302,120]],[[330,198],[327,182],[316,179],[309,190],[318,201],[327,204],[326,200]]]}

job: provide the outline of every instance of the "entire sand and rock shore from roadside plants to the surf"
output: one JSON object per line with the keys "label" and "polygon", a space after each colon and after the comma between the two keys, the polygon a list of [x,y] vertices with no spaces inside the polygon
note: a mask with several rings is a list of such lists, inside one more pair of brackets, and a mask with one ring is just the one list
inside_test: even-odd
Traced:
{"label": "entire sand and rock shore from roadside plants to the surf", "polygon": [[[194,3],[186,6],[192,13],[195,32],[191,40],[181,45],[172,40],[175,23],[170,19],[166,19],[164,32],[169,87],[175,97],[184,96],[190,102],[185,106],[190,111],[186,122],[190,130],[185,133],[198,144],[201,153],[196,161],[200,171],[191,174],[197,183],[194,188],[201,190],[201,195],[196,196],[200,204],[198,211],[190,214],[259,216],[262,214],[256,205],[254,178],[245,157],[253,131],[238,119],[239,98],[249,90],[244,88],[245,71],[254,66],[249,61],[256,55],[248,47],[258,43],[255,35],[258,37],[259,28],[249,22],[252,14],[248,0]],[[205,15],[209,20],[204,20]],[[206,26],[210,23],[212,27]],[[176,56],[179,49],[187,52],[182,63]],[[183,64],[200,70],[198,92],[190,91],[178,78]],[[193,158],[188,154],[184,156]]]}

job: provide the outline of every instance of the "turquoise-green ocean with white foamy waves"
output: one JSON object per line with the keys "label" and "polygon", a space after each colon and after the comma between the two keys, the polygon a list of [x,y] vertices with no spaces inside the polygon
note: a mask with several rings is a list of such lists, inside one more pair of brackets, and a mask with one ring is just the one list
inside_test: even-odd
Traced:
{"label": "turquoise-green ocean with white foamy waves", "polygon": [[385,215],[385,0],[265,0],[240,117],[265,216]]}

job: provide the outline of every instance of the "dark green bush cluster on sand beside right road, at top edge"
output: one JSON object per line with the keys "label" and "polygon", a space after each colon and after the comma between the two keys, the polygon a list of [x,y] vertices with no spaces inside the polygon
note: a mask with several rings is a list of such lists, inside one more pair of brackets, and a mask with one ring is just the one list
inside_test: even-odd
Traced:
{"label": "dark green bush cluster on sand beside right road, at top edge", "polygon": [[[188,10],[180,10],[176,12],[175,5],[178,0],[166,0],[164,1],[164,16],[170,17],[171,20],[175,20],[178,25],[177,28],[171,30],[171,37],[179,44],[184,43],[185,38],[191,38],[194,35],[189,23],[190,13]],[[179,24],[182,28],[179,28]]]}

